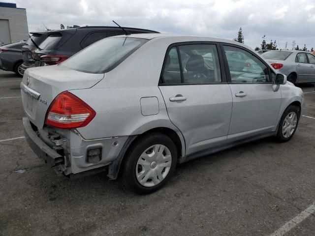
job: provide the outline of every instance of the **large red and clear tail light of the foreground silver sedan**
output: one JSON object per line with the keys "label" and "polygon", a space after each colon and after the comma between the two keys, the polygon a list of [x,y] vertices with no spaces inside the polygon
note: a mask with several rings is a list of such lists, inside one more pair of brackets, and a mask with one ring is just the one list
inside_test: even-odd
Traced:
{"label": "large red and clear tail light of the foreground silver sedan", "polygon": [[60,93],[50,105],[45,123],[62,129],[84,127],[95,117],[95,111],[72,93]]}

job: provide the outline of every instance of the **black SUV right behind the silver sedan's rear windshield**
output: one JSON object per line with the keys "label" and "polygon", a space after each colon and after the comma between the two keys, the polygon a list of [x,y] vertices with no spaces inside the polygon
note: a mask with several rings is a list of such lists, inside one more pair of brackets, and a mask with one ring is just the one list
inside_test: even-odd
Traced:
{"label": "black SUV right behind the silver sedan's rear windshield", "polygon": [[[158,33],[149,29],[124,27],[128,33]],[[90,44],[115,35],[125,34],[119,27],[86,26],[76,29],[59,29],[48,32],[47,38],[35,50],[35,66],[58,64]]]}

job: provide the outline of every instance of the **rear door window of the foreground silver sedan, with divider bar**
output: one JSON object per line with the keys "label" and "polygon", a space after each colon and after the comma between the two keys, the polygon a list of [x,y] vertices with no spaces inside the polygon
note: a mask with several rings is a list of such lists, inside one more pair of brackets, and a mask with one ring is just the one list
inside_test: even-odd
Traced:
{"label": "rear door window of the foreground silver sedan, with divider bar", "polygon": [[164,63],[164,84],[209,84],[222,81],[216,45],[191,44],[173,47]]}

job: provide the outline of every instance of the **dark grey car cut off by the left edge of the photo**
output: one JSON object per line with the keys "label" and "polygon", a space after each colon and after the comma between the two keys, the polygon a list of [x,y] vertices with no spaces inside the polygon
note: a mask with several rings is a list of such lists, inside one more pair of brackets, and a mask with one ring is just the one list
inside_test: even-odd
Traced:
{"label": "dark grey car cut off by the left edge of the photo", "polygon": [[23,77],[22,65],[22,46],[26,41],[6,44],[0,47],[0,69],[15,72]]}

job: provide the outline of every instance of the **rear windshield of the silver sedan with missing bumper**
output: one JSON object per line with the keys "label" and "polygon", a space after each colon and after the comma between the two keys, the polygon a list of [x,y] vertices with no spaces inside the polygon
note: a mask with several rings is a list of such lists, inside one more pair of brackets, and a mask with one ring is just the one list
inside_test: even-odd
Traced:
{"label": "rear windshield of the silver sedan with missing bumper", "polygon": [[61,65],[86,73],[105,73],[119,65],[147,41],[148,39],[143,38],[104,38],[65,60]]}

